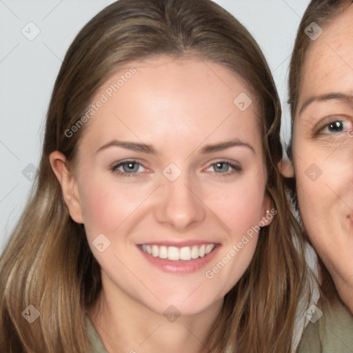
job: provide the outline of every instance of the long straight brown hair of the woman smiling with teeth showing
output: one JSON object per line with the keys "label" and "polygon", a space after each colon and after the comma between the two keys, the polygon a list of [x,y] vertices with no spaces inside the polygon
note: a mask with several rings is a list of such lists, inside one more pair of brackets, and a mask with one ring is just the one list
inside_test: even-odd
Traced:
{"label": "long straight brown hair of the woman smiling with teeth showing", "polygon": [[[0,259],[0,351],[88,352],[85,310],[101,292],[100,268],[83,225],[70,218],[49,155],[59,150],[74,165],[85,126],[70,137],[65,132],[101,85],[121,65],[161,54],[219,63],[250,86],[259,100],[266,192],[277,211],[260,231],[248,270],[225,296],[207,346],[212,352],[291,352],[307,283],[300,230],[277,168],[279,97],[251,34],[210,0],[117,1],[89,21],[68,49],[52,92],[37,183]],[[33,323],[22,314],[28,305],[40,312]]]}

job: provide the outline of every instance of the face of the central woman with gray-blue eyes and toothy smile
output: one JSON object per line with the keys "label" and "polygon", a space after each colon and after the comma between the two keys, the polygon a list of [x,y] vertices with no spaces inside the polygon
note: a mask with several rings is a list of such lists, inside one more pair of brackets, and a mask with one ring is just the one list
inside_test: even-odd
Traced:
{"label": "face of the central woman with gray-blue eyes and toothy smile", "polygon": [[219,306],[271,209],[255,97],[220,65],[159,57],[119,70],[98,100],[70,213],[105,297],[160,314]]}

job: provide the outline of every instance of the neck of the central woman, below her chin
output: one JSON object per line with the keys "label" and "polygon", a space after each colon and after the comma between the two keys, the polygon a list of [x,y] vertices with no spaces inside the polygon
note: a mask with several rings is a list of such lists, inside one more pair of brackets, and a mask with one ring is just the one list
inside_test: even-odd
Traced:
{"label": "neck of the central woman, below her chin", "polygon": [[223,301],[188,316],[165,316],[150,310],[119,291],[109,296],[103,290],[88,316],[109,353],[170,352],[203,353],[208,333]]}

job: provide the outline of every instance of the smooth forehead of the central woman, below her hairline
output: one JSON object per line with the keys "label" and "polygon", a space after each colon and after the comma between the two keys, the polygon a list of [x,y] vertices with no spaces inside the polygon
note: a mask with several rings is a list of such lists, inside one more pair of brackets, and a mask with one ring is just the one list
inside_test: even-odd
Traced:
{"label": "smooth forehead of the central woman, below her hairline", "polygon": [[[108,90],[132,67],[136,73],[125,77],[117,92]],[[216,63],[170,57],[132,62],[110,77],[94,100],[101,94],[108,100],[90,120],[83,143],[138,137],[163,145],[168,139],[168,145],[180,148],[185,139],[260,141],[256,97],[243,79]],[[234,104],[239,95],[245,105],[252,102],[244,111]]]}

